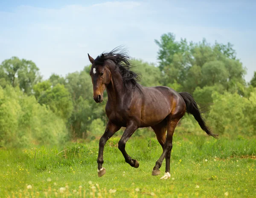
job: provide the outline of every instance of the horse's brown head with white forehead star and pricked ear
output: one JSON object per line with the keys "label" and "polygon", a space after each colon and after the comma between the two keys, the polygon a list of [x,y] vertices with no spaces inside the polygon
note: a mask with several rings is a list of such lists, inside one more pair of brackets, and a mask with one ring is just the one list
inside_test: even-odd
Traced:
{"label": "horse's brown head with white forehead star and pricked ear", "polygon": [[103,101],[103,92],[106,86],[110,83],[111,74],[106,66],[96,65],[94,59],[88,54],[89,60],[92,63],[90,69],[90,76],[93,83],[93,99],[96,103],[101,103]]}

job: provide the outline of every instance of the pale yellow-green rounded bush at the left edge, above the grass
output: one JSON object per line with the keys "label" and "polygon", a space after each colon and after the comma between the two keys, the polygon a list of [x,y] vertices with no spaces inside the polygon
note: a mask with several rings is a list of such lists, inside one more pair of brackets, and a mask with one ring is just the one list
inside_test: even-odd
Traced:
{"label": "pale yellow-green rounded bush at the left edge, above the grass", "polygon": [[57,144],[65,141],[64,121],[19,88],[0,86],[0,146]]}

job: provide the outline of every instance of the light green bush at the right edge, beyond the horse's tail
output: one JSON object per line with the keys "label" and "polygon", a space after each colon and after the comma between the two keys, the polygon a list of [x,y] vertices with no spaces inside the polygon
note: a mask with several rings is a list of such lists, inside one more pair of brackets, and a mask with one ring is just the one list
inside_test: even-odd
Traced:
{"label": "light green bush at the right edge, beyond the horse's tail", "polygon": [[209,121],[214,131],[228,136],[256,135],[256,89],[250,98],[237,93],[212,94],[214,105],[209,113]]}

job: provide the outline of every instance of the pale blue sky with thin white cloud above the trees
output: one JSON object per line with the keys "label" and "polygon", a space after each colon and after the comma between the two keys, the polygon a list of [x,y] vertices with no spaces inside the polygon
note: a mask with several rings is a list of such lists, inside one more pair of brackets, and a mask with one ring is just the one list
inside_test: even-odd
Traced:
{"label": "pale blue sky with thin white cloud above the trees", "polygon": [[102,52],[124,45],[129,55],[157,65],[162,34],[227,44],[256,71],[256,1],[253,0],[0,0],[0,63],[32,60],[47,79],[89,65]]}

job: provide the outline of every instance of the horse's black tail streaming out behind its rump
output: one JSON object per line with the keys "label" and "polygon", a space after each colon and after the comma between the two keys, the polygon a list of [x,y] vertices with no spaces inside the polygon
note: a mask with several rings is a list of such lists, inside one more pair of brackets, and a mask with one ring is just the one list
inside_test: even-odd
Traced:
{"label": "horse's black tail streaming out behind its rump", "polygon": [[198,109],[198,105],[192,95],[190,95],[188,92],[180,92],[179,94],[186,103],[186,112],[194,116],[195,120],[198,121],[198,124],[201,126],[201,129],[203,129],[208,135],[217,138],[218,134],[213,134],[206,126],[204,119],[201,116],[201,112]]}

